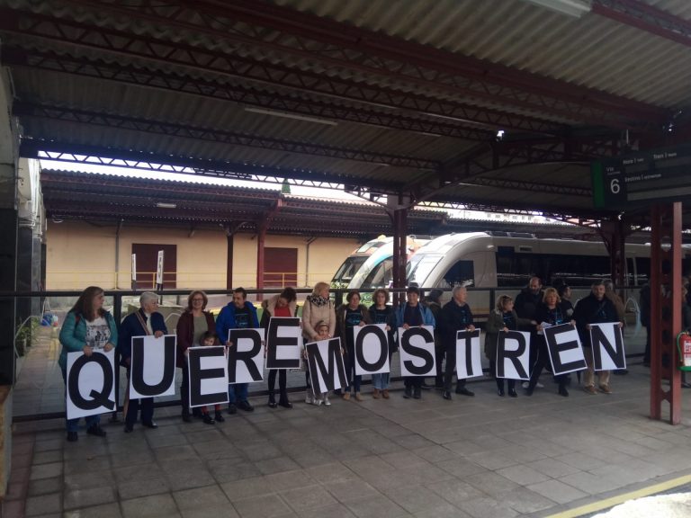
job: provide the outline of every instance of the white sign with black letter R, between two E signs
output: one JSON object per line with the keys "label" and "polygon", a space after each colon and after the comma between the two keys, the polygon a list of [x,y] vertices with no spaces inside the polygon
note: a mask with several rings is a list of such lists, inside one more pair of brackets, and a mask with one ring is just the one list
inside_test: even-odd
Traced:
{"label": "white sign with black letter R, between two E signs", "polygon": [[264,380],[262,360],[264,329],[230,329],[228,332],[228,383]]}

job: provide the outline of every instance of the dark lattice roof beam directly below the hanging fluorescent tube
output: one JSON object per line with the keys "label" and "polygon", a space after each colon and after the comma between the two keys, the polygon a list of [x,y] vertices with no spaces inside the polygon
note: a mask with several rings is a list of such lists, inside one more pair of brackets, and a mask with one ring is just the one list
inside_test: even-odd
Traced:
{"label": "dark lattice roof beam directly below the hanging fluorescent tube", "polygon": [[[377,153],[362,149],[326,146],[287,140],[284,138],[268,138],[226,129],[201,128],[166,121],[152,121],[137,117],[127,117],[120,114],[79,110],[76,108],[59,107],[38,103],[14,103],[13,114],[19,117],[37,117],[56,121],[92,124],[117,129],[131,129],[145,133],[156,133],[172,137],[194,138],[233,146],[259,147],[272,151],[285,151],[300,155],[327,156],[355,160],[370,164],[387,164],[398,167],[413,167],[416,169],[436,170],[441,163],[435,160],[416,156],[397,156]],[[38,136],[32,136],[38,137]]]}

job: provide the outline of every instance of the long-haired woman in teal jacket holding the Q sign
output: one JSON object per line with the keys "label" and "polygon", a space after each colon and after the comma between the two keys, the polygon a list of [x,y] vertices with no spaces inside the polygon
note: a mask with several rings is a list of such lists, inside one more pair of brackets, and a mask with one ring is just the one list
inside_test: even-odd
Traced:
{"label": "long-haired woman in teal jacket holding the Q sign", "polygon": [[[105,294],[98,286],[89,286],[76,299],[75,305],[67,312],[60,329],[62,351],[58,359],[62,379],[67,385],[67,353],[83,352],[91,356],[94,352],[108,353],[118,343],[118,326],[112,315],[103,309]],[[101,416],[85,417],[86,433],[105,437],[101,428]],[[79,419],[67,419],[67,441],[78,439],[76,430]]]}

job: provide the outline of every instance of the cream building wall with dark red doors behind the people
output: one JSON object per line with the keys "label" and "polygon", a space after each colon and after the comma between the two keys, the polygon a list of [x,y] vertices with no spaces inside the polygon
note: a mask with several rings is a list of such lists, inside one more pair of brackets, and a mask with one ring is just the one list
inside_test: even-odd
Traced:
{"label": "cream building wall with dark red doors behind the people", "polygon": [[[234,287],[256,287],[256,235],[238,233],[233,242]],[[82,290],[98,285],[129,290],[133,244],[175,245],[176,288],[225,289],[228,244],[224,231],[49,221],[46,232],[46,289]],[[266,235],[265,246],[297,249],[297,286],[330,281],[360,242],[354,238]],[[141,274],[141,270],[139,269]],[[167,271],[167,270],[166,270]],[[155,272],[151,275],[152,284]]]}

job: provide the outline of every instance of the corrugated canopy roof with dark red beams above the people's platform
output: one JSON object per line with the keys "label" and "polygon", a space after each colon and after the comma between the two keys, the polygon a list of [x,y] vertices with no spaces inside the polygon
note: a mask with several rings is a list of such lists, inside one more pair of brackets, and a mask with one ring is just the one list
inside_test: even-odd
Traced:
{"label": "corrugated canopy roof with dark red beams above the people's platform", "polygon": [[687,134],[691,4],[583,4],[0,0],[0,37],[25,156],[609,218],[589,162]]}

